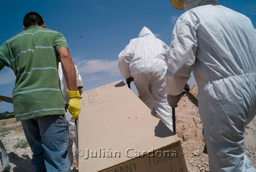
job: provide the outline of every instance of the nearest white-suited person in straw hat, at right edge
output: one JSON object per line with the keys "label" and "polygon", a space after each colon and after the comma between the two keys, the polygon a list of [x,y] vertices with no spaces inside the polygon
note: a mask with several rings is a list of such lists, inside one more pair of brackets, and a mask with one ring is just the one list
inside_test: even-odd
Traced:
{"label": "nearest white-suited person in straw hat, at right edge", "polygon": [[217,0],[170,2],[186,12],[172,33],[168,102],[177,104],[193,71],[210,171],[256,171],[244,143],[245,126],[256,114],[256,30]]}

